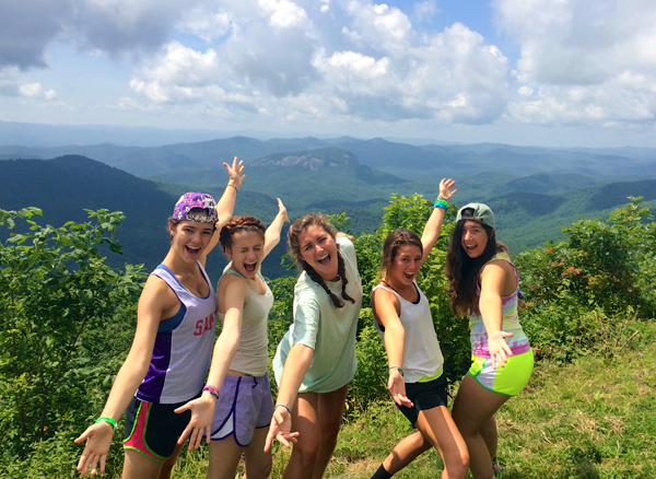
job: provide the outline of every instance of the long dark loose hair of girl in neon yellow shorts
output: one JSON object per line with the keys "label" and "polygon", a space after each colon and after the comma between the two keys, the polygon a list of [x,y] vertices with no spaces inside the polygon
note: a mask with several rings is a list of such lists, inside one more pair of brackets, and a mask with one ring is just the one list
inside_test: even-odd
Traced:
{"label": "long dark loose hair of girl in neon yellow shorts", "polygon": [[494,229],[480,224],[488,235],[483,254],[470,258],[462,248],[462,229],[471,220],[460,220],[452,233],[450,245],[446,254],[446,278],[448,279],[448,300],[452,309],[458,316],[479,313],[478,281],[481,268],[496,253],[507,252],[507,246],[496,241]]}

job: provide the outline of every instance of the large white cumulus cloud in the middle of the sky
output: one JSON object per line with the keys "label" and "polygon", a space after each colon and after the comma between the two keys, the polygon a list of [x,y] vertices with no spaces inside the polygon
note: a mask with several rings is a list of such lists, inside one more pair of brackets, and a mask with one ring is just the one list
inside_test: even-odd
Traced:
{"label": "large white cumulus cloud in the middle of the sky", "polygon": [[156,103],[238,95],[260,114],[294,119],[480,124],[504,110],[507,58],[462,24],[419,37],[399,9],[364,0],[223,8],[206,12],[229,19],[220,44],[203,51],[167,44],[137,72],[132,90]]}

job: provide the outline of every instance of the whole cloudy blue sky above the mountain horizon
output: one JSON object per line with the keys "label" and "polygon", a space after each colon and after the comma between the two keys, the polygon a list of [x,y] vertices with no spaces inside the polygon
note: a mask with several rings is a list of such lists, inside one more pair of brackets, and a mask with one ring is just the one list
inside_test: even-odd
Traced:
{"label": "whole cloudy blue sky above the mountain horizon", "polygon": [[653,0],[3,0],[0,120],[656,147]]}

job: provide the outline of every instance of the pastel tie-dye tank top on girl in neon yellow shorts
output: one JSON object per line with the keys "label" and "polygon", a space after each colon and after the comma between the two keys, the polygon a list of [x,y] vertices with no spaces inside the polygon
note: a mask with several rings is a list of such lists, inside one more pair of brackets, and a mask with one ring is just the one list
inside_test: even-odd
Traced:
{"label": "pastel tie-dye tank top on girl in neon yellow shorts", "polygon": [[[494,261],[495,259],[503,259],[511,264],[513,271],[515,272],[516,287],[518,287],[519,274],[517,273],[517,268],[515,268],[515,265],[511,261],[508,254],[505,252],[497,253],[490,261]],[[479,284],[478,294],[480,295],[480,293],[481,289]],[[524,334],[524,329],[522,329],[519,317],[517,315],[517,293],[514,292],[507,296],[501,296],[501,302],[503,311],[501,329],[515,335],[512,338],[506,338],[506,342],[511,348],[511,351],[513,351],[513,355],[530,351],[528,338]],[[483,324],[483,318],[480,314],[471,314],[469,316],[469,329],[471,353],[481,358],[490,358],[490,351],[488,350],[488,332],[485,331],[485,325]]]}

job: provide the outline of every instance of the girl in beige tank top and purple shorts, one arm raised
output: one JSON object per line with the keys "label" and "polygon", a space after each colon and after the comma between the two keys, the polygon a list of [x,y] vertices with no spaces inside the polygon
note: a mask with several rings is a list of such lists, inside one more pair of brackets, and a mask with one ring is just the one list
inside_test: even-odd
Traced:
{"label": "girl in beige tank top and purple shorts, one arm raised", "polygon": [[222,331],[214,344],[206,393],[177,410],[194,412],[180,443],[190,433],[189,448],[198,447],[203,431],[207,441],[211,440],[209,479],[234,478],[242,455],[249,477],[266,478],[271,471],[265,440],[273,413],[267,374],[267,318],[273,294],[260,267],[289,221],[280,199],[278,208],[268,229],[255,217],[241,215],[221,230],[221,246],[231,260],[216,287]]}

